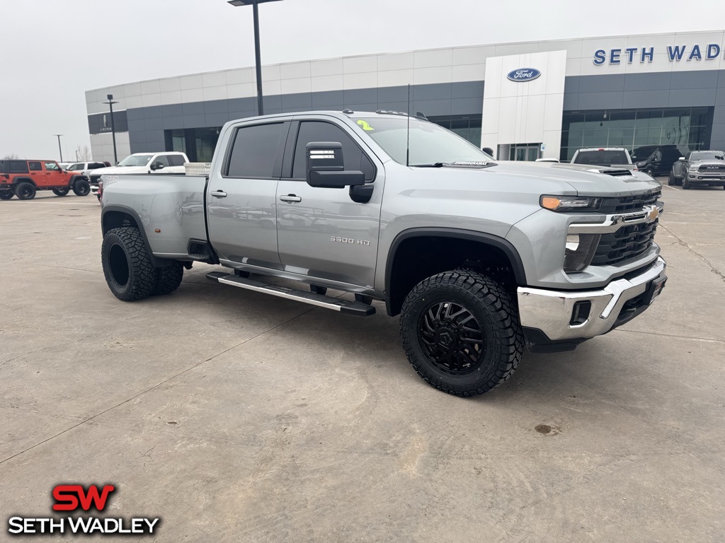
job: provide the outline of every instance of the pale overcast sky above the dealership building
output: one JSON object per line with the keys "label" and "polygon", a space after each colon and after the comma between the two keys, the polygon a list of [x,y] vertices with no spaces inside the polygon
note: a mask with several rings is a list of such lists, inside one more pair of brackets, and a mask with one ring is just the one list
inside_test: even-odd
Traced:
{"label": "pale overcast sky above the dealership building", "polygon": [[[284,0],[262,64],[447,46],[722,30],[725,0]],[[226,0],[0,0],[0,157],[75,158],[85,91],[254,65],[251,7]],[[120,158],[120,157],[119,157]]]}

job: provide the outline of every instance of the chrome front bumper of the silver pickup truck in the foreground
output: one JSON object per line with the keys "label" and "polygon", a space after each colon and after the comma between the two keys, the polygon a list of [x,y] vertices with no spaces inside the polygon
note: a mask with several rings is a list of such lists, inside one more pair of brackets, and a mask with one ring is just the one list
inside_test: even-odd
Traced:
{"label": "chrome front bumper of the silver pickup truck in the foreground", "polygon": [[[620,319],[624,305],[647,292],[653,282],[667,279],[662,257],[629,279],[615,279],[597,290],[544,290],[518,287],[518,313],[521,326],[539,329],[552,342],[582,340],[606,334]],[[571,324],[574,305],[589,301],[589,317],[581,324]],[[646,303],[651,303],[651,299]],[[637,308],[638,312],[646,308]]]}

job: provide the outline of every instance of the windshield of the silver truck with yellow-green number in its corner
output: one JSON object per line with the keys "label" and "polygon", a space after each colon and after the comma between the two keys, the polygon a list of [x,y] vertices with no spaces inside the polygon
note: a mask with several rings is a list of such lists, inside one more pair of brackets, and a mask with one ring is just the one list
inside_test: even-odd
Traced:
{"label": "windshield of the silver truck with yellow-green number in its corner", "polygon": [[[366,117],[353,119],[360,132],[373,138],[398,164],[406,163],[408,118]],[[410,166],[471,161],[490,162],[476,146],[432,122],[410,117]]]}

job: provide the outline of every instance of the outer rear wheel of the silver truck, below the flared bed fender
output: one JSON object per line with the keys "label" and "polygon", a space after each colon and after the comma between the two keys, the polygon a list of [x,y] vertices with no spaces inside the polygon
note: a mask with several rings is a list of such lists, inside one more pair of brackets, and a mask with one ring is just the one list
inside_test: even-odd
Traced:
{"label": "outer rear wheel of the silver truck, below the flared bed fender", "polygon": [[101,262],[108,287],[119,300],[133,302],[154,292],[157,273],[138,228],[120,227],[106,232]]}

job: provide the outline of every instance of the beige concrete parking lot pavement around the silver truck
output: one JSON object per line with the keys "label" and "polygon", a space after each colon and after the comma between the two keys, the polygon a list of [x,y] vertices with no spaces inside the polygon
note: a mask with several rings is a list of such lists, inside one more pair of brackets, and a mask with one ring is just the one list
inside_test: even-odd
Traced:
{"label": "beige concrete parking lot pavement around the silver truck", "polygon": [[0,202],[0,539],[54,485],[110,482],[104,514],[161,517],[159,542],[722,542],[725,190],[663,201],[655,304],[473,399],[415,374],[382,304],[205,265],[123,303],[94,198]]}

